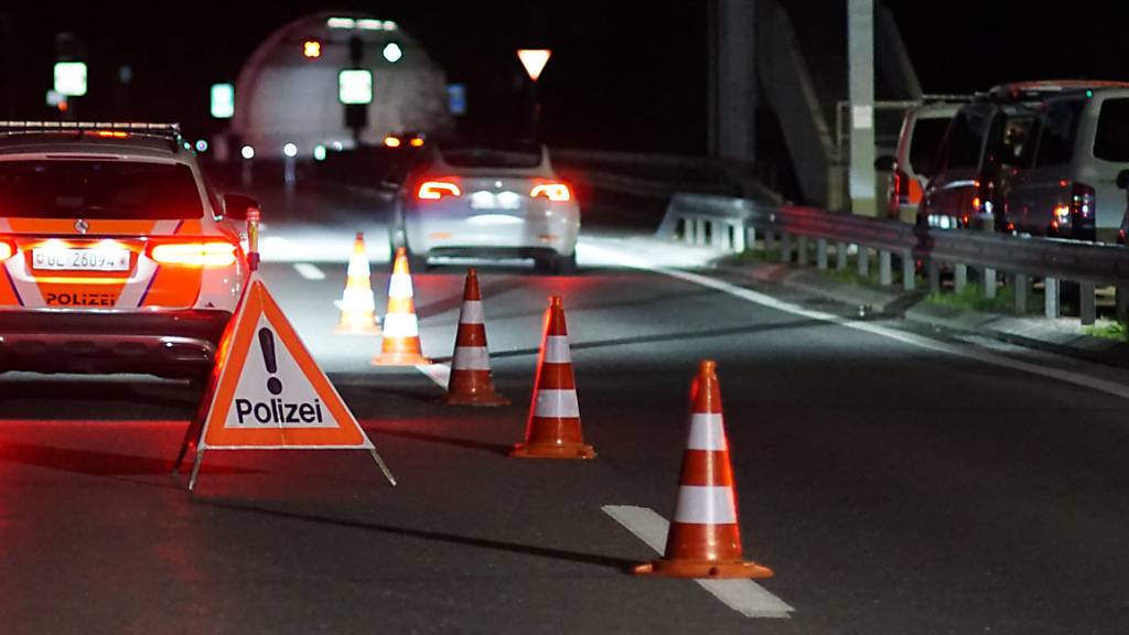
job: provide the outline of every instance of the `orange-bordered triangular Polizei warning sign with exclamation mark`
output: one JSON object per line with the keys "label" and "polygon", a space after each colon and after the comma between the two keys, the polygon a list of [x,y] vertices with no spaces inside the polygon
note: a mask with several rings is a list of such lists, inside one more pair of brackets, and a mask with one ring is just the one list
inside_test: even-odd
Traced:
{"label": "orange-bordered triangular Polizei warning sign with exclamation mark", "polygon": [[257,276],[216,367],[200,451],[374,449]]}

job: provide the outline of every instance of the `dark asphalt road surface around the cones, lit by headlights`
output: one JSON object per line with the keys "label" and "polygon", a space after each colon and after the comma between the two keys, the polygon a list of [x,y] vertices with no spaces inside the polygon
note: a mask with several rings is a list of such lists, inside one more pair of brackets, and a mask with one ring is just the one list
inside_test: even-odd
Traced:
{"label": "dark asphalt road surface around the cones, lit by headlights", "polygon": [[[212,452],[190,495],[169,471],[198,388],[5,375],[0,633],[1129,632],[1114,372],[902,331],[736,272],[648,270],[702,254],[586,226],[576,277],[480,267],[514,405],[446,407],[423,372],[373,368],[378,339],[332,333],[357,230],[384,307],[386,203],[262,198],[264,279],[400,486],[364,452]],[[414,275],[438,363],[464,271]],[[594,461],[505,456],[551,294]],[[776,571],[728,601],[625,573],[655,553],[604,511],[671,516],[702,358],[718,362],[746,555]]]}

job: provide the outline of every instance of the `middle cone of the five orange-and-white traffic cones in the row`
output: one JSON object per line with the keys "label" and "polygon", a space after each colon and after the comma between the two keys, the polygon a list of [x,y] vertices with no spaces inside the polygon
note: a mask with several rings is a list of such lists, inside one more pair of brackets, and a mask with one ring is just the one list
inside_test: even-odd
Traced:
{"label": "middle cone of the five orange-and-white traffic cones in the row", "polygon": [[482,293],[479,290],[479,275],[474,269],[466,271],[463,307],[458,312],[458,333],[455,336],[455,355],[450,363],[450,381],[447,383],[444,401],[460,406],[509,403],[508,399],[493,391]]}

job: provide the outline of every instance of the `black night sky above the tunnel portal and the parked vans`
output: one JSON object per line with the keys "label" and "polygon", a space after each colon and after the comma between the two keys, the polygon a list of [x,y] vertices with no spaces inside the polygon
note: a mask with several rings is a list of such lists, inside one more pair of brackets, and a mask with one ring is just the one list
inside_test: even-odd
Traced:
{"label": "black night sky above the tunnel portal and the parked vans", "polygon": [[[524,76],[513,51],[545,44],[554,50],[541,82],[551,142],[704,150],[702,0],[339,0],[272,2],[265,9],[251,2],[201,0],[177,2],[175,14],[167,9],[172,5],[0,3],[12,35],[5,37],[0,31],[8,41],[0,50],[7,53],[0,66],[0,71],[7,69],[0,108],[26,118],[50,114],[43,95],[51,82],[54,34],[71,31],[85,44],[90,63],[91,96],[84,114],[175,119],[190,131],[204,132],[212,125],[207,116],[208,85],[234,80],[271,31],[305,14],[352,9],[399,21],[446,66],[449,80],[465,81],[472,121],[523,112]],[[1109,14],[1113,3],[889,0],[887,5],[928,93],[970,92],[1029,77],[1129,78],[1124,21],[1095,18]],[[128,89],[115,80],[123,63],[134,69]]]}

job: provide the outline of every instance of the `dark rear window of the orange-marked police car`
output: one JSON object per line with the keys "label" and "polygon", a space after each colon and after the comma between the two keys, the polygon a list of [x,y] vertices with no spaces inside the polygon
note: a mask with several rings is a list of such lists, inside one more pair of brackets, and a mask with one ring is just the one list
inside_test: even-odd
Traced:
{"label": "dark rear window of the orange-marked police car", "polygon": [[98,159],[0,160],[0,216],[200,218],[186,165]]}

